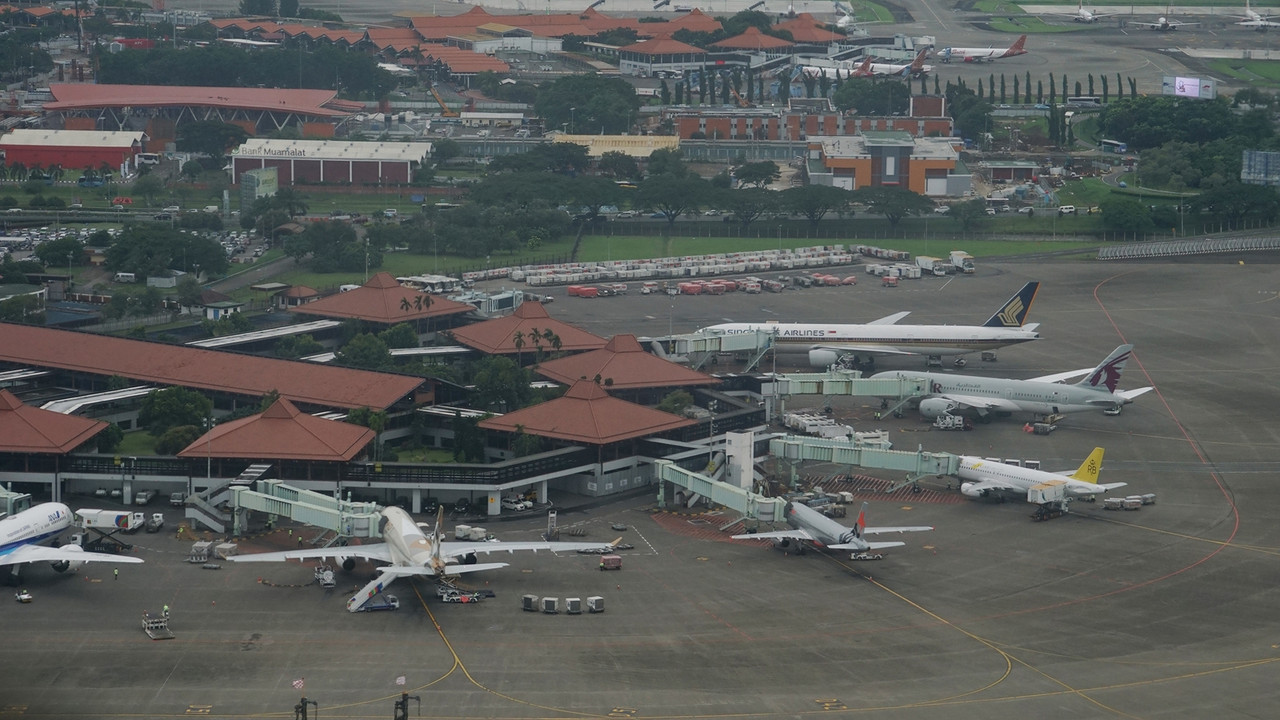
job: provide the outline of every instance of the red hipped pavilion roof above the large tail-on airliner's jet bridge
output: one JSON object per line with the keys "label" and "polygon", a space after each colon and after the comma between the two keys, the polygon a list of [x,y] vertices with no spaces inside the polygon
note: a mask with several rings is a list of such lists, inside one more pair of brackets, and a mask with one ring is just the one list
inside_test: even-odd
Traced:
{"label": "red hipped pavilion roof above the large tail-on airliner's jet bridge", "polygon": [[283,397],[257,415],[215,425],[178,457],[252,457],[346,462],[374,439],[374,430],[307,415]]}

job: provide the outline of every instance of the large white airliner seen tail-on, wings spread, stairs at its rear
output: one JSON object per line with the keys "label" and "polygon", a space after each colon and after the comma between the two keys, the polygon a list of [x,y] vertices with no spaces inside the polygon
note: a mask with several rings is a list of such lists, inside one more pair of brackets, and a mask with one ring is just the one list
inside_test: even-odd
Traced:
{"label": "large white airliner seen tail-on, wings spread, stairs at its rear", "polygon": [[284,552],[262,552],[257,555],[234,555],[232,562],[284,562],[285,560],[326,560],[333,557],[349,570],[356,559],[389,562],[378,569],[378,577],[347,601],[347,610],[357,612],[366,602],[389,585],[396,578],[428,577],[440,578],[497,570],[506,562],[476,562],[476,553],[515,552],[517,550],[550,550],[573,552],[579,550],[599,550],[612,547],[602,542],[452,542],[444,539],[444,507],[435,518],[435,529],[424,534],[413,523],[413,518],[399,507],[383,510],[378,529],[387,542],[371,544],[352,544],[346,547],[321,547],[315,550],[288,550]]}

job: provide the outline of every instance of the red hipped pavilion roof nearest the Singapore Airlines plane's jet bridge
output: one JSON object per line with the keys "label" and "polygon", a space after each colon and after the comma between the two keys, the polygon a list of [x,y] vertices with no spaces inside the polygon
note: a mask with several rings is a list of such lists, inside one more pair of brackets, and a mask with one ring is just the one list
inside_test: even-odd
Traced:
{"label": "red hipped pavilion roof nearest the Singapore Airlines plane's jet bridge", "polygon": [[[634,334],[617,334],[600,350],[548,360],[538,373],[558,383],[600,378],[605,388],[716,384],[716,378],[645,352]],[[612,382],[608,382],[612,380]]]}

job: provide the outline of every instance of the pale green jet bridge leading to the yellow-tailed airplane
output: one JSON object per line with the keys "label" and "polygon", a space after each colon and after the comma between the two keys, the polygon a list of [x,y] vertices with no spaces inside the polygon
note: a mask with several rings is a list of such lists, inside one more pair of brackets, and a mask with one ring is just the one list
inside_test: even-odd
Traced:
{"label": "pale green jet bridge leading to the yellow-tailed airplane", "polygon": [[[948,452],[882,450],[854,445],[847,439],[782,436],[769,441],[769,454],[791,461],[792,475],[795,475],[795,466],[800,460],[906,471],[906,479],[890,486],[886,492],[895,492],[906,486],[915,486],[922,478],[929,475],[955,475],[960,471],[960,456]],[[794,486],[796,478],[792,477],[790,480]]]}

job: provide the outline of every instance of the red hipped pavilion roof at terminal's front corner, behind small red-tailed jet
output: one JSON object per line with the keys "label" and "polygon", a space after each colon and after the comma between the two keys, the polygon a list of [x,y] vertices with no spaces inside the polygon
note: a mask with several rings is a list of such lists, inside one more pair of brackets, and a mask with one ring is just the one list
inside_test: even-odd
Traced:
{"label": "red hipped pavilion roof at terminal's front corner, behind small red-tailed jet", "polygon": [[692,424],[686,418],[609,397],[591,380],[573,383],[556,400],[480,420],[486,430],[513,433],[518,425],[532,436],[586,445],[608,445]]}

